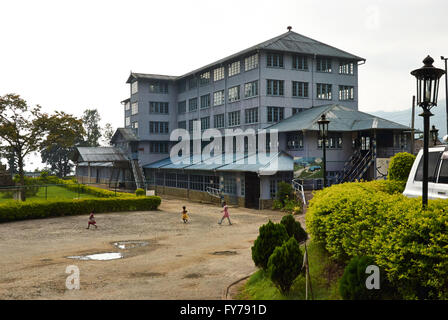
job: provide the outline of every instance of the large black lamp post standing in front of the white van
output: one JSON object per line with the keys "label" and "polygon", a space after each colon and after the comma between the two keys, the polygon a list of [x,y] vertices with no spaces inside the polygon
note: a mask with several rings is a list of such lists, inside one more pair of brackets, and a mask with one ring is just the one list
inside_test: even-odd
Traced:
{"label": "large black lamp post standing in front of the white van", "polygon": [[419,115],[423,117],[423,190],[422,205],[428,206],[428,148],[429,148],[429,118],[433,115],[431,108],[437,106],[440,77],[444,70],[435,68],[434,59],[427,56],[423,60],[424,66],[411,72],[417,79],[417,104],[423,109]]}

